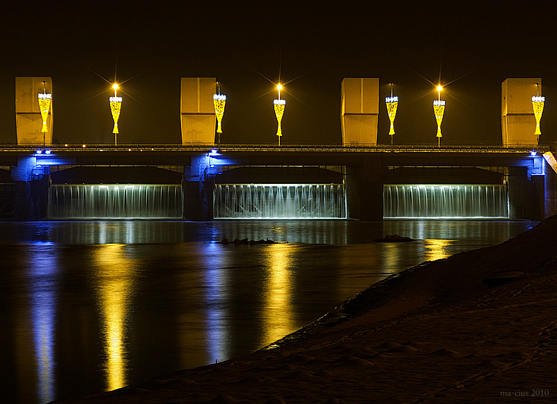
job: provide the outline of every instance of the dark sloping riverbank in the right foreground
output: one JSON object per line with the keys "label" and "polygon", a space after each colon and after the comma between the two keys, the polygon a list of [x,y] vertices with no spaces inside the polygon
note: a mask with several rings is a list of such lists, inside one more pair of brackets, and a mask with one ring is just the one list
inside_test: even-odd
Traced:
{"label": "dark sloping riverbank in the right foreground", "polygon": [[556,257],[551,217],[391,277],[278,348],[68,403],[555,403]]}

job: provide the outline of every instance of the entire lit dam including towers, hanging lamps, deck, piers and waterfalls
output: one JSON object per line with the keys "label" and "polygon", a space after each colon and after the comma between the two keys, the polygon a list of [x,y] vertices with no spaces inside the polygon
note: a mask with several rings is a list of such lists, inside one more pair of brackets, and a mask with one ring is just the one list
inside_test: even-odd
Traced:
{"label": "entire lit dam including towers, hanging lamps, deck, piers and waterfalls", "polygon": [[[46,93],[52,79],[16,77],[18,144],[0,146],[0,217],[543,219],[557,213],[557,153],[539,146],[544,98],[532,94],[540,85],[503,81],[501,146],[443,145],[441,100],[436,146],[377,144],[377,78],[343,79],[340,144],[221,144],[215,128],[226,97],[214,94],[214,77],[181,79],[181,144],[117,143],[115,94],[113,145],[60,145]],[[389,134],[393,102],[386,98]]]}

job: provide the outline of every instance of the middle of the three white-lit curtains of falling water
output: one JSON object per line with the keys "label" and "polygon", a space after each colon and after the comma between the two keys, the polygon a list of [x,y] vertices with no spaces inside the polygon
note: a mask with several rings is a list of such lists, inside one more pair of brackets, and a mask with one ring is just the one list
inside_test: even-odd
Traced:
{"label": "middle of the three white-lit curtains of falling water", "polygon": [[345,219],[344,185],[215,185],[215,219]]}

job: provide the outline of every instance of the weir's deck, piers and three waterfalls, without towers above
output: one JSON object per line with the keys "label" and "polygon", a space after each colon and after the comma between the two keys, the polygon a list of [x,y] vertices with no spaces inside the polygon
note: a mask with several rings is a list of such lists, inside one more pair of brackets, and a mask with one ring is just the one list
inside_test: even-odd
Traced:
{"label": "weir's deck, piers and three waterfalls, without towers above", "polygon": [[542,152],[530,149],[80,145],[38,155],[10,146],[0,150],[8,167],[0,203],[6,217],[31,220],[538,220],[557,212],[557,181]]}

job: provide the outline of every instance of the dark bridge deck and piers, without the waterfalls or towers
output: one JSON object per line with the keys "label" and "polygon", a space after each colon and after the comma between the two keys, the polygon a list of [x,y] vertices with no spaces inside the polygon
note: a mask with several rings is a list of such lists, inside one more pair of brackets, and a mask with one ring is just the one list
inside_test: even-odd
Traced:
{"label": "dark bridge deck and piers, without the waterfalls or towers", "polygon": [[[508,217],[554,214],[555,150],[532,146],[391,145],[4,145],[0,146],[6,218],[49,217],[61,185],[180,185],[182,216],[213,219],[223,185],[337,184],[347,218],[382,220],[387,185],[504,186]],[[217,216],[218,217],[218,216]]]}

